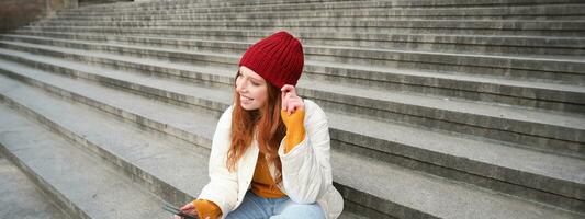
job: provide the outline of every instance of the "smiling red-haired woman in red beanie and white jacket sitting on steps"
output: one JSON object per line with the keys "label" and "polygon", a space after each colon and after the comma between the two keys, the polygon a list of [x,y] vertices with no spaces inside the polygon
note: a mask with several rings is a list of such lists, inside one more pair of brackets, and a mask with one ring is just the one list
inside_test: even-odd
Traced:
{"label": "smiling red-haired woman in red beanie and white jacket sitting on steps", "polygon": [[202,219],[339,216],[344,200],[333,186],[327,117],[294,88],[303,65],[303,47],[286,32],[246,50],[235,104],[213,137],[211,182],[182,211]]}

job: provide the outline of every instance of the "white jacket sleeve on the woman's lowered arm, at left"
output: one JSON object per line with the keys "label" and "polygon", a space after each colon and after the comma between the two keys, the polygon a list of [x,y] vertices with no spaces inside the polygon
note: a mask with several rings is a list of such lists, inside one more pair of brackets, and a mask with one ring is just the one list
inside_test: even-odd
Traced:
{"label": "white jacket sleeve on the woman's lowered arm, at left", "polygon": [[232,106],[228,107],[217,122],[213,136],[210,154],[210,183],[203,187],[198,199],[213,201],[222,210],[223,217],[232,211],[236,205],[238,184],[236,172],[229,172],[226,166],[232,130]]}

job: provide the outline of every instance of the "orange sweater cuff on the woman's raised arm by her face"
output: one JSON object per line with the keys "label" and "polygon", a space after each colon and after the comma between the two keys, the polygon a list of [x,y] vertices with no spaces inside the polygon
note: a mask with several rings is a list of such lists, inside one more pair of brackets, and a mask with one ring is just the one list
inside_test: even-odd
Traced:
{"label": "orange sweater cuff on the woman's raised arm by her face", "polygon": [[291,151],[296,145],[305,139],[305,111],[297,110],[291,115],[286,111],[281,111],[280,116],[286,126],[286,136],[284,136],[284,153]]}

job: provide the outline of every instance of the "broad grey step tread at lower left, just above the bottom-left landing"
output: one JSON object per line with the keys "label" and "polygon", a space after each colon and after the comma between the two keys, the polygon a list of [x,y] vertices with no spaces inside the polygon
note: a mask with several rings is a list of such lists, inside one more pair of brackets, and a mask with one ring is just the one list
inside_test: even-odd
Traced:
{"label": "broad grey step tread at lower left, just above the bottom-left landing", "polygon": [[[2,85],[7,80],[0,80]],[[2,93],[16,90],[3,87]],[[41,101],[41,100],[30,100]],[[47,107],[47,106],[44,106]],[[0,106],[1,142],[7,151],[91,218],[164,218],[160,200],[136,187],[98,158]]]}

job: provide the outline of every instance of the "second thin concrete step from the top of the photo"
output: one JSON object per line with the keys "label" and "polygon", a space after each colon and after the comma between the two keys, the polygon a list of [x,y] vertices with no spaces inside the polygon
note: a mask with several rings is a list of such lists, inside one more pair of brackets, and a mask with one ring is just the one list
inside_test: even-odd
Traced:
{"label": "second thin concrete step from the top of the photo", "polygon": [[[292,10],[288,13],[283,13],[283,10],[267,9],[262,11],[255,10],[238,10],[238,13],[234,13],[235,10],[204,10],[204,9],[190,9],[190,8],[134,8],[124,12],[114,12],[92,10],[83,16],[79,13],[58,13],[56,18],[71,18],[71,19],[87,19],[87,18],[123,18],[133,19],[136,15],[151,18],[151,15],[159,15],[161,18],[172,18],[175,15],[188,15],[189,18],[209,18],[209,16],[222,16],[222,18],[315,18],[315,16],[558,16],[563,19],[567,15],[582,16],[585,15],[582,9],[585,8],[583,3],[565,3],[565,4],[545,4],[545,5],[492,5],[492,7],[461,7],[461,8],[361,8],[356,10],[355,8],[328,8],[328,9],[315,9],[315,8],[301,8]],[[237,10],[237,9],[236,9]],[[70,11],[69,11],[70,12]],[[149,13],[145,13],[149,12]],[[172,12],[172,13],[169,13]],[[318,13],[322,12],[322,13]],[[563,13],[566,12],[566,13]],[[54,16],[55,18],[55,16]]]}

